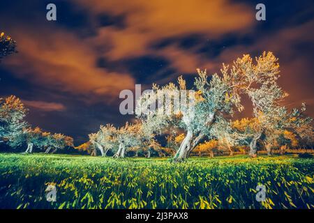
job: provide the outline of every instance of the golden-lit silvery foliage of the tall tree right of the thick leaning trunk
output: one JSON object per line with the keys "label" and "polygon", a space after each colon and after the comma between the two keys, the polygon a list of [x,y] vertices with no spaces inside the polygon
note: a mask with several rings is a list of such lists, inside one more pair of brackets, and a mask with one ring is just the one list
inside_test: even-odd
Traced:
{"label": "golden-lit silvery foliage of the tall tree right of the thick leaning trunk", "polygon": [[[247,58],[245,61],[241,69],[246,70],[246,86],[249,87],[243,91],[252,101],[253,116],[257,121],[254,129],[248,128],[246,131],[248,144],[255,141],[253,145],[256,146],[256,141],[262,136],[265,145],[274,144],[285,129],[293,129],[300,137],[313,135],[310,125],[312,119],[304,117],[305,105],[302,105],[301,111],[292,109],[292,112],[283,106],[283,100],[288,94],[277,84],[280,77],[278,59],[270,52],[264,52],[256,59],[256,65],[253,65],[252,59]],[[308,128],[311,130],[305,131]]]}

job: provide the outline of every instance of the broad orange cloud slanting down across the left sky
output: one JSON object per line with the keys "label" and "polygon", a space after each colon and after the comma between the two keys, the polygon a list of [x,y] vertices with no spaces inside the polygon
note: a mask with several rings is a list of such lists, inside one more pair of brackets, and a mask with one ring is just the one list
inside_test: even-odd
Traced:
{"label": "broad orange cloud slanting down across the left sky", "polygon": [[127,73],[97,68],[97,54],[72,33],[30,27],[15,30],[10,34],[17,40],[19,53],[8,57],[4,65],[24,79],[91,100],[93,95],[115,99],[121,89],[134,86]]}

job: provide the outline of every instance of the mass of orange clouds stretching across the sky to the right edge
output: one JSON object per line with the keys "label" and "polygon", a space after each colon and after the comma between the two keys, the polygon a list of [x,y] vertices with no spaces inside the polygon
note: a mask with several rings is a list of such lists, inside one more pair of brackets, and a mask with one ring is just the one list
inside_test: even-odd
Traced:
{"label": "mass of orange clouds stretching across the sky to the right edge", "polygon": [[96,36],[85,39],[54,26],[50,29],[15,26],[10,35],[17,40],[20,53],[10,56],[4,64],[32,82],[93,100],[102,97],[117,100],[119,91],[133,89],[135,80],[127,71],[97,68],[98,56],[107,61],[144,55],[161,56],[170,61],[170,67],[178,72],[176,75],[180,72],[194,73],[196,68],[207,68],[210,74],[218,72],[221,63],[230,63],[242,54],[271,50],[280,59],[283,76],[280,82],[291,95],[290,103],[299,105],[300,100],[306,100],[314,114],[313,100],[309,96],[313,95],[313,84],[306,82],[312,75],[313,65],[302,52],[292,49],[298,41],[313,40],[313,21],[273,31],[264,38],[256,38],[257,42],[251,46],[227,47],[209,61],[193,48],[182,49],[177,44],[163,49],[151,49],[150,46],[165,38],[175,39],[195,33],[209,39],[218,39],[226,33],[252,34],[251,28],[256,22],[254,7],[227,0],[75,0],[73,3],[87,9],[94,22],[102,13],[124,15],[125,26],[100,27]]}

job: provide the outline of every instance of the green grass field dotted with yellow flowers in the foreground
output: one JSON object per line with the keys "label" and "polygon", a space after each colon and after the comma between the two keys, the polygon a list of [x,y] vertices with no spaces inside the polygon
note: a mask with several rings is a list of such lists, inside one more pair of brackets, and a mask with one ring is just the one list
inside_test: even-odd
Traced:
{"label": "green grass field dotted with yellow flowers in the foreground", "polygon": [[[0,208],[314,208],[314,159],[0,153]],[[46,200],[48,184],[57,201]],[[255,199],[257,185],[266,200]]]}

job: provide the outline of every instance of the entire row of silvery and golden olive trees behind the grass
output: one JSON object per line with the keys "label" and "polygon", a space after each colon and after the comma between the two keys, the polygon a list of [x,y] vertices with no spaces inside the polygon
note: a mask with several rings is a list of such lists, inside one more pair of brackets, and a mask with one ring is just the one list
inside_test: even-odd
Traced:
{"label": "entire row of silvery and golden olive trees behind the grass", "polygon": [[[9,36],[1,33],[0,40],[1,58],[16,52],[15,41]],[[313,141],[313,120],[305,115],[304,104],[301,109],[291,111],[283,105],[287,93],[278,86],[279,77],[278,59],[271,52],[264,52],[255,61],[251,56],[244,55],[234,61],[232,66],[223,64],[220,75],[208,77],[206,70],[197,70],[192,89],[187,89],[182,77],[178,78],[177,84],[153,84],[152,91],[144,93],[137,100],[137,121],[126,123],[120,128],[111,124],[101,125],[98,132],[89,134],[86,144],[77,148],[91,148],[94,155],[98,150],[103,156],[110,151],[114,157],[125,157],[127,151],[135,155],[141,152],[147,157],[151,152],[162,156],[174,151],[174,160],[181,161],[193,150],[209,149],[212,154],[213,148],[221,148],[227,149],[232,155],[232,148],[248,146],[249,155],[255,157],[258,145],[271,154],[271,148],[278,148],[284,140],[309,144]],[[158,95],[185,90],[194,90],[193,105],[183,103],[176,107],[174,100],[162,100],[158,101],[156,108]],[[251,100],[253,118],[233,121],[234,113],[244,110],[241,103],[244,95]],[[27,144],[26,153],[31,153],[33,146],[45,148],[46,153],[51,148],[56,151],[58,148],[73,146],[71,137],[31,128],[24,121],[26,113],[27,109],[15,96],[0,99],[2,143],[13,148]],[[168,147],[171,148],[163,148],[158,144],[156,137],[160,135],[167,135]]]}

